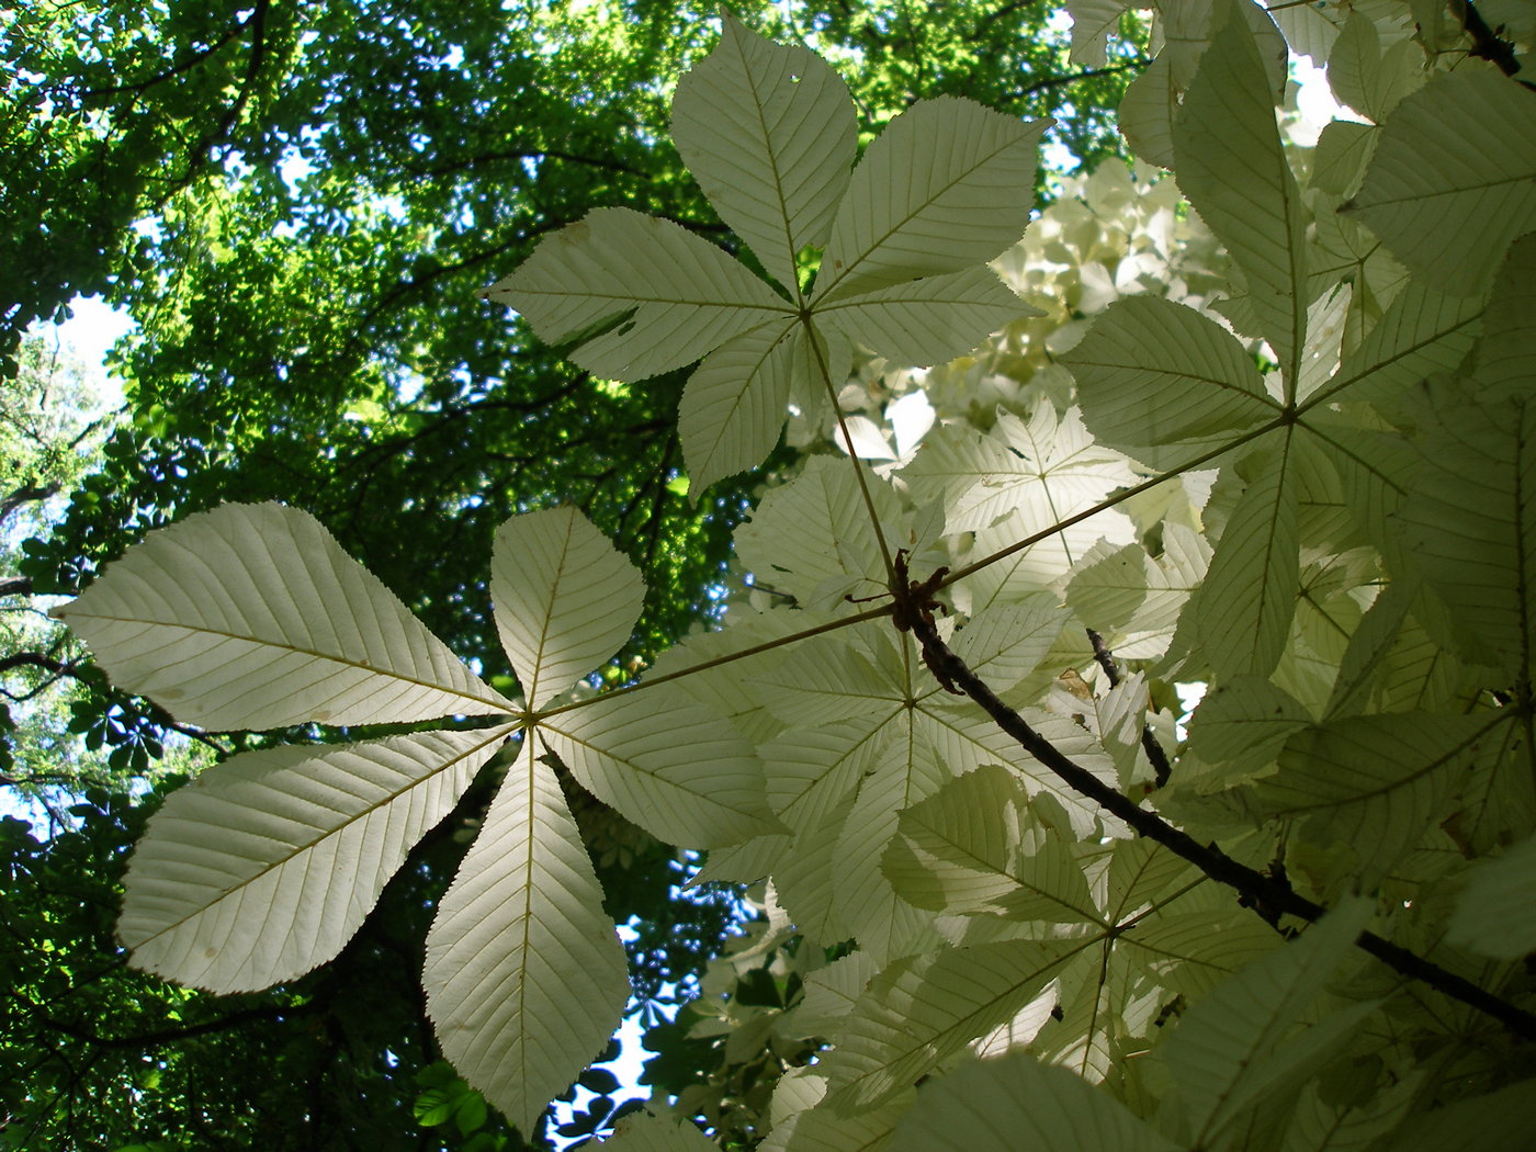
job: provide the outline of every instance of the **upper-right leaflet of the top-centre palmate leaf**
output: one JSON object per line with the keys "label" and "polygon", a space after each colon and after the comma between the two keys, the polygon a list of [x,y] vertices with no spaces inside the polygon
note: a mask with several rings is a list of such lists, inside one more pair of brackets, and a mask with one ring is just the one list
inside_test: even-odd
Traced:
{"label": "upper-right leaflet of the top-centre palmate leaf", "polygon": [[957,97],[906,109],[854,169],[814,307],[1001,255],[1029,224],[1035,149],[1052,123],[1025,124]]}

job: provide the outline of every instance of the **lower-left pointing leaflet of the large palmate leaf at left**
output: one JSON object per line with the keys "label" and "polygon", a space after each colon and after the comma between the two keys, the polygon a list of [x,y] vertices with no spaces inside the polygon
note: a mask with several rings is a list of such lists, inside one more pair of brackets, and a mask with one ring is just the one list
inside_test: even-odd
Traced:
{"label": "lower-left pointing leaflet of the large palmate leaf at left", "polygon": [[134,849],[132,963],[214,992],[330,960],[511,725],[243,753],[170,794]]}

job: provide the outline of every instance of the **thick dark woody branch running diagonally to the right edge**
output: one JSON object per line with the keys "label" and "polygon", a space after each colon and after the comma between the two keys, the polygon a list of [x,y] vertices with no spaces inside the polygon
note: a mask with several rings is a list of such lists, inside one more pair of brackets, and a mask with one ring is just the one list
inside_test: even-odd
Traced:
{"label": "thick dark woody branch running diagonally to the right edge", "polygon": [[[1089,773],[1086,768],[1068,759],[1057,750],[1055,745],[1031,728],[1025,717],[1003,703],[992,693],[992,690],[988,688],[986,684],[983,684],[980,677],[977,677],[977,674],[966,667],[965,660],[955,656],[945,645],[945,642],[938,637],[938,630],[934,627],[932,619],[919,613],[911,621],[911,627],[912,634],[917,636],[923,645],[923,659],[928,665],[934,668],[940,677],[948,677],[957,684],[966,696],[982,705],[986,714],[997,722],[998,728],[1018,740],[1020,746],[1026,753],[1054,771],[1072,788],[1072,791],[1094,800],[1104,811],[1124,820],[1138,836],[1155,840],[1169,851],[1189,860],[1212,880],[1218,880],[1220,883],[1236,889],[1243,903],[1260,909],[1266,914],[1266,919],[1270,912],[1273,912],[1276,915],[1295,915],[1307,923],[1315,923],[1329,911],[1322,905],[1307,900],[1304,895],[1292,889],[1290,885],[1275,877],[1264,876],[1247,865],[1238,863],[1213,843],[1201,845],[1195,840],[1195,837],[1189,836],[1189,833],[1175,828],[1157,813],[1141,808],[1129,797],[1120,794],[1097,776]],[[1361,932],[1355,943],[1392,968],[1395,972],[1412,980],[1421,980],[1453,1000],[1459,1000],[1461,1003],[1493,1017],[1522,1040],[1536,1040],[1536,1015],[1531,1015],[1510,1001],[1493,995],[1465,977],[1459,977],[1455,972],[1425,960],[1418,952],[1410,952],[1407,948],[1401,948],[1375,932]]]}

